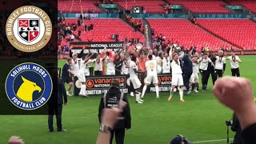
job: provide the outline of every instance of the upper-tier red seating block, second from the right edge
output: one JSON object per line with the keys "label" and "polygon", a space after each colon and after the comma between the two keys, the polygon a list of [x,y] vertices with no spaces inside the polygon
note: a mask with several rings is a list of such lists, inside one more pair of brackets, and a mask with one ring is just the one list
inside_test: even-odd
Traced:
{"label": "upper-tier red seating block, second from the right edge", "polygon": [[225,8],[225,3],[222,1],[208,0],[208,1],[190,1],[190,0],[166,0],[172,5],[182,5],[187,10],[196,14],[229,14]]}

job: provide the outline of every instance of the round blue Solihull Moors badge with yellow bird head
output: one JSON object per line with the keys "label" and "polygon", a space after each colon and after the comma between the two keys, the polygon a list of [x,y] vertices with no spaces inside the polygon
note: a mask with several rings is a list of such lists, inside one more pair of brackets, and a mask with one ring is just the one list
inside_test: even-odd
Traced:
{"label": "round blue Solihull Moors badge with yellow bird head", "polygon": [[36,63],[15,66],[6,78],[6,95],[22,110],[35,110],[46,104],[53,90],[50,74]]}

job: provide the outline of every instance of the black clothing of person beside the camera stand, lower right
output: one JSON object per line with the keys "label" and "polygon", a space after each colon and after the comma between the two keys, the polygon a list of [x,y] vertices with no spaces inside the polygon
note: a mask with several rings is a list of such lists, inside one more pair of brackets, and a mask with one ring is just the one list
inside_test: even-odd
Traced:
{"label": "black clothing of person beside the camera stand, lower right", "polygon": [[242,141],[242,128],[240,126],[240,122],[238,121],[238,118],[236,115],[233,115],[233,123],[231,125],[231,130],[236,132],[234,135],[234,144],[243,144]]}

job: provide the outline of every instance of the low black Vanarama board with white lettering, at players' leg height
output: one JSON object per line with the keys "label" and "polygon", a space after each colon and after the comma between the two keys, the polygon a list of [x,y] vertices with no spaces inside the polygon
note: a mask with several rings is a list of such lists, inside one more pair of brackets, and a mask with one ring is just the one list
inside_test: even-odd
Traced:
{"label": "low black Vanarama board with white lettering, at players' leg height", "polygon": [[[90,76],[86,77],[86,92],[88,95],[102,95],[107,92],[111,86],[111,81],[117,79],[120,83],[120,89],[125,94],[128,94],[130,82],[129,75],[118,75],[118,76]],[[76,82],[75,86],[78,86],[79,82]],[[170,74],[159,74],[158,75],[159,91],[167,92],[170,91],[171,86],[171,75]],[[154,85],[148,86],[146,92],[154,92]]]}

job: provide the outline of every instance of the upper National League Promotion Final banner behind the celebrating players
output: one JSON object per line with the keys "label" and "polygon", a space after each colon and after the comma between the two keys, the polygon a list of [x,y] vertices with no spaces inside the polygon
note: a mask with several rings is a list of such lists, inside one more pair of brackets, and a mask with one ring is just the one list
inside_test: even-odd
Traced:
{"label": "upper National League Promotion Final banner behind the celebrating players", "polygon": [[70,51],[71,55],[76,54],[101,54],[106,48],[107,50],[113,50],[117,52],[122,50],[123,42],[70,42],[70,47],[73,47]]}

